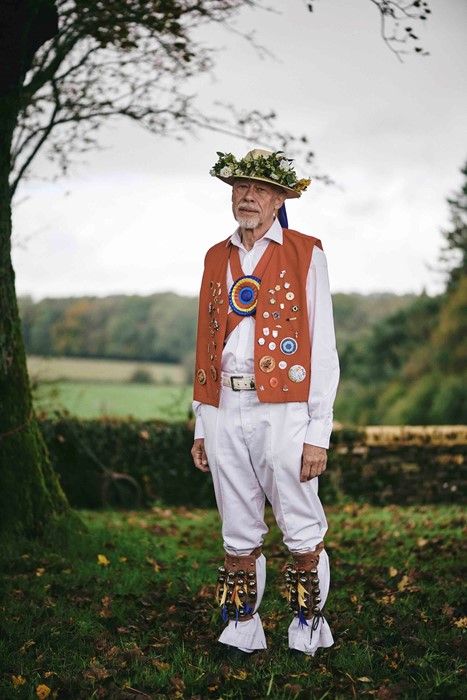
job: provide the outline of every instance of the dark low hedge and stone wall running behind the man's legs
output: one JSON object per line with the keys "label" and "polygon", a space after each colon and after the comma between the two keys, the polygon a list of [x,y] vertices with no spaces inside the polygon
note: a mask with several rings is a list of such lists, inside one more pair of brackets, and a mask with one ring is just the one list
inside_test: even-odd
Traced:
{"label": "dark low hedge and stone wall running behind the man's legs", "polygon": [[[39,424],[74,507],[215,505],[210,475],[192,463],[192,423],[57,415]],[[324,504],[465,503],[466,454],[465,426],[340,427],[320,497]]]}

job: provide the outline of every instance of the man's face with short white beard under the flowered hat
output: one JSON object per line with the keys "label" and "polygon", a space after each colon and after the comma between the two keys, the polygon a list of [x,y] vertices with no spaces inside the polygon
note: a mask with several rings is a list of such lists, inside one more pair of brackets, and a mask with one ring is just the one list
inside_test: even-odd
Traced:
{"label": "man's face with short white beard under the flowered hat", "polygon": [[274,185],[259,180],[238,179],[232,187],[232,211],[242,228],[272,223],[285,195]]}

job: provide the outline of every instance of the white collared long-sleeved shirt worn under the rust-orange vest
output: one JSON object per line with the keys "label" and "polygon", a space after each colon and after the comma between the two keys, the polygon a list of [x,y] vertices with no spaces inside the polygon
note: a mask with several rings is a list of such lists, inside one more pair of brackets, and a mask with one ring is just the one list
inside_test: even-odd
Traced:
{"label": "white collared long-sleeved shirt worn under the rust-orange vest", "polygon": [[[271,228],[254,243],[251,250],[247,250],[242,244],[238,228],[229,240],[239,248],[243,272],[245,275],[251,275],[270,240],[282,245],[282,226],[278,219],[275,219]],[[230,266],[228,266],[227,289],[230,289],[232,284],[232,274]],[[313,247],[308,270],[306,297],[312,353],[310,393],[308,396],[310,422],[305,442],[317,447],[328,448],[340,368],[326,256],[316,245]],[[230,312],[233,313],[231,310]],[[222,371],[228,374],[255,374],[254,342],[254,316],[245,316],[226,339],[222,352]],[[200,406],[199,401],[193,401],[193,412],[196,416],[195,439],[204,438]]]}

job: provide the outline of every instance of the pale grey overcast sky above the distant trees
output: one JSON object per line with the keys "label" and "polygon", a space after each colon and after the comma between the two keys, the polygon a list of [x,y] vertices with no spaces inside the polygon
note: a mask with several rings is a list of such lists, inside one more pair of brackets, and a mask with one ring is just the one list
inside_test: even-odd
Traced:
{"label": "pale grey overcast sky above the distant trees", "polygon": [[[430,0],[416,33],[431,55],[404,63],[380,38],[370,0],[317,0],[313,13],[300,0],[270,4],[287,13],[244,10],[238,26],[254,26],[276,59],[213,33],[224,50],[216,81],[197,82],[200,104],[274,108],[286,129],[309,134],[339,187],[312,182],[289,202],[289,225],[322,240],[333,292],[439,292],[430,267],[467,158],[467,3]],[[103,143],[66,180],[23,185],[18,294],[197,294],[206,249],[235,228],[230,187],[209,169],[217,150],[251,146],[214,133],[179,143],[125,122]],[[34,172],[48,172],[44,160]]]}

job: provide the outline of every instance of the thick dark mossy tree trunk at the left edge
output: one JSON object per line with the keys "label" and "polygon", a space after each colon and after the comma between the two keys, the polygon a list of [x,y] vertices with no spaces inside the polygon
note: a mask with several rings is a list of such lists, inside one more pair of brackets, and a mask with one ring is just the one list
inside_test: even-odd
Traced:
{"label": "thick dark mossy tree trunk at the left edge", "polygon": [[[45,14],[40,14],[45,8]],[[0,30],[0,536],[38,536],[79,522],[35,420],[11,263],[10,151],[21,85],[34,52],[56,31],[49,0],[2,4]],[[46,264],[46,261],[45,261]]]}

